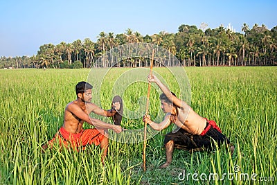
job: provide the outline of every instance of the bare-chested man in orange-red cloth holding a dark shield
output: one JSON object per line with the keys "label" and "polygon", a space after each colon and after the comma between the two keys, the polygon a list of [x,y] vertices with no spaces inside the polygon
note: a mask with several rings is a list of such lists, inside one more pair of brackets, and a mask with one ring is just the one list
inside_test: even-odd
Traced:
{"label": "bare-chested man in orange-red cloth holding a dark shield", "polygon": [[[101,116],[113,116],[116,110],[120,109],[120,103],[113,104],[114,109],[104,110],[97,105],[91,103],[92,86],[88,82],[78,82],[75,86],[77,99],[66,105],[64,110],[64,124],[55,134],[55,137],[46,143],[42,148],[45,150],[48,146],[52,146],[53,142],[58,139],[60,146],[71,147],[73,149],[83,149],[88,144],[100,144],[102,148],[102,162],[104,161],[108,150],[108,129],[114,130],[116,133],[122,132],[123,128],[120,125],[112,125],[105,123],[96,118],[91,118],[91,112]],[[95,126],[96,128],[83,129],[84,122]]]}

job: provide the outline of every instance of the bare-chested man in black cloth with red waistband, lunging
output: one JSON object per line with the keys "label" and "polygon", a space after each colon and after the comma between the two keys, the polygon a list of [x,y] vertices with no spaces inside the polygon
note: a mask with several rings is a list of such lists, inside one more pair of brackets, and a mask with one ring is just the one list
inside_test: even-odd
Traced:
{"label": "bare-chested man in black cloth with red waistband, lunging", "polygon": [[[171,163],[174,148],[186,150],[206,148],[212,150],[215,147],[214,141],[218,146],[223,143],[230,143],[229,139],[221,133],[215,121],[209,121],[199,116],[187,103],[177,98],[168,87],[163,85],[156,76],[148,76],[148,81],[157,83],[163,91],[160,96],[161,109],[166,113],[166,116],[161,123],[154,123],[149,115],[143,116],[143,121],[150,124],[154,130],[163,130],[170,123],[177,125],[176,130],[166,134],[164,139],[166,163],[159,166],[159,168],[166,168]],[[233,152],[233,146],[230,147],[230,150]]]}

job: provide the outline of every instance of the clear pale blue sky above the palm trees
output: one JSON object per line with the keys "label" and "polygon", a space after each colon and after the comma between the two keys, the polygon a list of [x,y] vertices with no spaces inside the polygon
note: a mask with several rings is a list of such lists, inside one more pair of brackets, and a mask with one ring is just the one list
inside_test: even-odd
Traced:
{"label": "clear pale blue sky above the palm trees", "polygon": [[229,23],[241,32],[244,23],[277,26],[276,0],[0,0],[0,56],[36,55],[43,44],[71,43],[89,37],[96,42],[101,31],[143,36],[160,31],[177,33],[181,24],[202,22],[208,28]]}

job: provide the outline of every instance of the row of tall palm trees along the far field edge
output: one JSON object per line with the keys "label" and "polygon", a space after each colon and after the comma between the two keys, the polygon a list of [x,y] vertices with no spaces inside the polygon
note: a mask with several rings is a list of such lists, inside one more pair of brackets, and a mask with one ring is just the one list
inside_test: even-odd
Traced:
{"label": "row of tall palm trees along the far field edge", "polygon": [[[223,26],[214,29],[206,29],[206,26],[202,24],[201,28],[197,28],[182,24],[178,33],[161,31],[145,36],[130,28],[117,35],[101,32],[96,42],[89,38],[83,41],[77,39],[72,43],[44,44],[39,47],[37,55],[31,57],[2,56],[0,68],[90,68],[107,51],[136,42],[163,47],[175,55],[184,67],[277,64],[277,26],[269,30],[263,24],[255,24],[253,28],[243,24],[242,33],[235,33]],[[150,63],[134,60],[130,58],[120,62],[117,67],[143,67]]]}

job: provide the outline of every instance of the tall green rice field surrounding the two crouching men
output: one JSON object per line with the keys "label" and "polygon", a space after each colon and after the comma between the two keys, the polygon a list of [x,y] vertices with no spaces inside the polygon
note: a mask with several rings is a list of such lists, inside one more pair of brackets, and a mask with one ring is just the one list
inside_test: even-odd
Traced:
{"label": "tall green rice field surrounding the two crouching men", "polygon": [[[110,109],[111,89],[124,89],[122,125],[141,129],[140,115],[145,111],[145,98],[141,96],[146,96],[148,83],[125,87],[125,82],[117,82],[119,74],[128,70],[111,69],[101,83],[98,76],[104,69],[94,70],[90,76],[92,101]],[[42,153],[42,145],[62,126],[64,107],[76,98],[75,85],[87,80],[89,69],[0,70],[0,184],[276,184],[277,67],[185,70],[190,82],[190,106],[200,116],[218,123],[235,146],[233,155],[225,148],[193,153],[175,150],[172,164],[158,169],[166,160],[163,138],[172,127],[149,137],[146,171],[141,132],[133,133],[129,143],[124,137],[131,136],[120,134],[123,140],[118,140],[111,132],[105,166],[101,164],[99,146],[81,152],[53,148]],[[172,78],[165,68],[154,71],[164,79]],[[124,79],[129,78],[126,75]],[[171,82],[167,82],[170,90],[178,94],[179,85],[174,78]],[[162,121],[164,114],[160,111],[159,91],[153,87],[149,114]],[[111,118],[91,116],[112,123]],[[91,125],[85,123],[84,127]]]}

